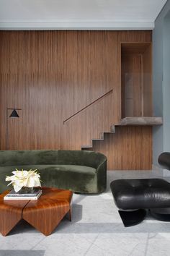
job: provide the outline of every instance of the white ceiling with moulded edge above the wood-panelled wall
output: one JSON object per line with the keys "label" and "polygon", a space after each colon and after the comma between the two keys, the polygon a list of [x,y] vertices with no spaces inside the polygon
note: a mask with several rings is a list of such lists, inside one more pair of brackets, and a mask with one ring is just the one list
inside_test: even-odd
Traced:
{"label": "white ceiling with moulded edge above the wood-panelled wall", "polygon": [[0,0],[0,30],[153,30],[167,0]]}

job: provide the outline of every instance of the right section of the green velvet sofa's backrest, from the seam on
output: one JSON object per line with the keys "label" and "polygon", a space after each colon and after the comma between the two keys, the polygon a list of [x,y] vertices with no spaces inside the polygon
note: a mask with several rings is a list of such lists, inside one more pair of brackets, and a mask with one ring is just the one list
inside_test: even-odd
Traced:
{"label": "right section of the green velvet sofa's backrest, from the seam on", "polygon": [[73,164],[97,168],[107,158],[102,153],[89,150],[58,150],[58,164]]}

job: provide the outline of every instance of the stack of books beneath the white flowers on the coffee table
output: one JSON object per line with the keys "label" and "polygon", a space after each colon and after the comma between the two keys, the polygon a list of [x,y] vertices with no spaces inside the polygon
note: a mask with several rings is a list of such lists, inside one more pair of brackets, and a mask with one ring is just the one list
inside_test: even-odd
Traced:
{"label": "stack of books beneath the white flowers on the coffee table", "polygon": [[15,192],[14,189],[4,196],[4,200],[37,200],[40,195],[42,195],[42,189],[40,187],[35,187],[31,191],[25,192],[20,190]]}

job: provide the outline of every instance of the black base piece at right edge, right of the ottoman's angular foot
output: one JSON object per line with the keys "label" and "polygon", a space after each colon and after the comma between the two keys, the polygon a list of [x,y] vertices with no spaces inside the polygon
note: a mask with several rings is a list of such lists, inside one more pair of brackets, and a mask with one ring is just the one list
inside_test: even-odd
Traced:
{"label": "black base piece at right edge, right of the ottoman's angular foot", "polygon": [[170,221],[170,208],[153,208],[149,209],[151,216],[158,221]]}

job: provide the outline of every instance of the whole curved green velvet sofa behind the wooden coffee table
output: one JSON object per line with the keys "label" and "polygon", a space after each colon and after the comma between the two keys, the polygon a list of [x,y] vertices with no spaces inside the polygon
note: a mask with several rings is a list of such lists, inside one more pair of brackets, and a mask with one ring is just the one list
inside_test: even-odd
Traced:
{"label": "whole curved green velvet sofa behind the wooden coffee table", "polygon": [[85,150],[1,150],[0,193],[6,190],[6,175],[15,168],[40,173],[42,186],[70,189],[73,192],[104,192],[107,183],[107,158]]}

